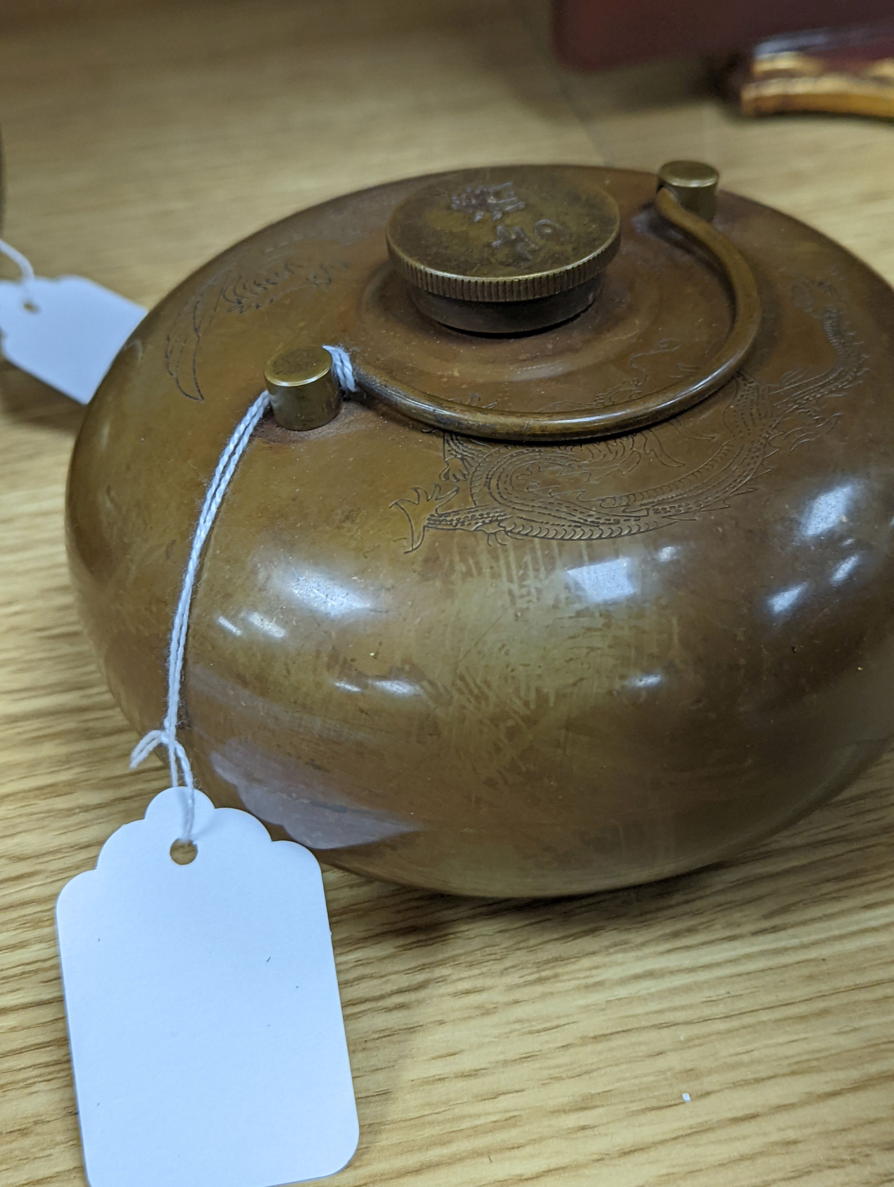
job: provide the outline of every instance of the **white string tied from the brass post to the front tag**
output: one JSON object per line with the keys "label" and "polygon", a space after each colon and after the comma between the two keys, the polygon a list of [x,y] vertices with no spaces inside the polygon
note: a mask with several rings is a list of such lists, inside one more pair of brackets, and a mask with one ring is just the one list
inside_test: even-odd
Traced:
{"label": "white string tied from the brass post to the front tag", "polygon": [[[332,374],[338,386],[345,392],[356,392],[357,383],[348,351],[342,347],[335,345],[324,345],[323,349],[328,350],[332,357]],[[252,433],[270,406],[270,393],[264,391],[234,429],[233,436],[224,445],[211,481],[208,484],[198,522],[196,523],[196,532],[192,537],[192,546],[189,560],[186,561],[186,571],[183,576],[183,585],[173,616],[173,626],[171,627],[171,642],[167,650],[167,707],[165,717],[161,726],[157,730],[150,730],[137,743],[131,754],[131,769],[133,769],[152,754],[157,747],[164,745],[167,750],[171,789],[182,787],[185,791],[183,837],[179,838],[180,843],[184,844],[192,842],[192,830],[196,820],[196,783],[186,751],[177,737],[177,723],[180,712],[180,688],[183,686],[183,666],[186,656],[186,633],[189,630],[192,592],[196,585],[196,577],[198,576],[202,550],[214,527],[217,512],[221,509],[221,503],[223,502],[223,496],[227,493],[233,475],[236,472],[236,466],[242,455],[248,447]],[[180,782],[180,777],[183,782]]]}

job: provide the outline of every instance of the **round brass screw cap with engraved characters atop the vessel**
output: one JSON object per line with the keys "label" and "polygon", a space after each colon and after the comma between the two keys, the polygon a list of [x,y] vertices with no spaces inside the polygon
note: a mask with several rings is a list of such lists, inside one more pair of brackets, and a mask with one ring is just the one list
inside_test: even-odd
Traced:
{"label": "round brass screw cap with engraved characters atop the vessel", "polygon": [[592,301],[621,218],[588,171],[525,165],[439,177],[395,207],[385,234],[424,313],[461,330],[518,334]]}

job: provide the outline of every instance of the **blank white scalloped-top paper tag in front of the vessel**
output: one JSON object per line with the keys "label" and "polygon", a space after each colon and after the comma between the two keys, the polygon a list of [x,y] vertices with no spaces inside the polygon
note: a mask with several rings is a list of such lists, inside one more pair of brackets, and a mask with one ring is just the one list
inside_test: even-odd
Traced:
{"label": "blank white scalloped-top paper tag in front of the vessel", "polygon": [[316,858],[182,789],[106,842],[56,907],[91,1187],[279,1187],[357,1145]]}

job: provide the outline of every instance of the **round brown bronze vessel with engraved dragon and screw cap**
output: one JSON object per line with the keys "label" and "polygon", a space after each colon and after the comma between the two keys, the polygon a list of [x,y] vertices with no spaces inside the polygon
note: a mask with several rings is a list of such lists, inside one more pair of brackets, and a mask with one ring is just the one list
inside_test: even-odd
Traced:
{"label": "round brown bronze vessel with engraved dragon and screw cap", "polygon": [[[727,858],[883,749],[894,292],[672,166],[348,195],[224,252],[127,343],[75,449],[68,528],[139,731],[164,713],[204,488],[265,369],[277,387],[192,608],[180,738],[215,802],[374,877],[564,895]],[[608,211],[589,272],[597,236],[563,223],[563,185]],[[417,273],[395,262],[389,220],[432,188],[437,226],[467,217],[503,261],[451,275],[553,277],[430,283],[505,305],[499,332],[419,299],[414,275],[450,272],[424,241]],[[581,310],[532,328],[526,303],[581,285]],[[323,344],[350,355],[349,399]]]}

